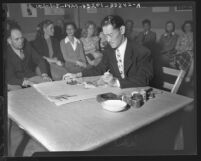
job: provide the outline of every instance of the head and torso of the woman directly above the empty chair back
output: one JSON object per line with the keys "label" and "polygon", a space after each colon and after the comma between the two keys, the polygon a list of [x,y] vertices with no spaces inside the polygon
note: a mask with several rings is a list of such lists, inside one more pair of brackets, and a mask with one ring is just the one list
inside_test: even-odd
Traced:
{"label": "head and torso of the woman directly above the empty chair back", "polygon": [[177,39],[178,35],[175,33],[175,23],[168,21],[165,25],[165,33],[159,40],[160,58],[163,66],[172,67]]}

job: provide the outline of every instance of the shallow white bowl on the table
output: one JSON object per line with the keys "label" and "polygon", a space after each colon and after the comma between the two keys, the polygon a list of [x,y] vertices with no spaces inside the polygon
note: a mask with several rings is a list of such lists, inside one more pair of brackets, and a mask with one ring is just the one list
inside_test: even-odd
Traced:
{"label": "shallow white bowl on the table", "polygon": [[119,112],[126,108],[127,103],[121,100],[107,100],[101,103],[105,110]]}

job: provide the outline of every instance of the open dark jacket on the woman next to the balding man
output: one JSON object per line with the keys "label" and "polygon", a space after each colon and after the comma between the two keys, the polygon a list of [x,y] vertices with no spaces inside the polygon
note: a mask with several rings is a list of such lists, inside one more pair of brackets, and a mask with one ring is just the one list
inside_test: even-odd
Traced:
{"label": "open dark jacket on the woman next to the balding man", "polygon": [[[60,61],[64,62],[61,49],[60,49],[60,43],[56,38],[51,37],[52,41],[52,49],[53,49],[53,57],[56,57]],[[47,46],[47,42],[43,37],[38,36],[33,42],[32,45],[34,49],[41,55],[49,57],[49,49]]]}

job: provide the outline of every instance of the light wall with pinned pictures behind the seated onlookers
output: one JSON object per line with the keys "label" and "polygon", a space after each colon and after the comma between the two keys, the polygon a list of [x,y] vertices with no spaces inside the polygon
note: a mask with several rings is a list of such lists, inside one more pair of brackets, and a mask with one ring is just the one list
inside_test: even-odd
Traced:
{"label": "light wall with pinned pictures behind the seated onlookers", "polygon": [[157,33],[157,39],[164,32],[165,23],[168,20],[173,20],[176,23],[176,32],[181,33],[180,27],[185,20],[192,19],[192,12],[175,12],[174,7],[170,7],[169,12],[154,13],[151,7],[147,8],[98,8],[97,13],[88,13],[87,9],[65,9],[65,16],[47,16],[44,15],[44,9],[37,9],[37,17],[24,18],[21,14],[21,7],[19,3],[8,4],[10,11],[10,18],[15,19],[22,27],[25,37],[28,40],[34,39],[35,29],[39,22],[44,19],[50,19],[56,21],[58,18],[65,18],[74,21],[80,27],[83,27],[88,20],[94,21],[100,26],[101,20],[109,14],[118,14],[124,20],[132,19],[135,23],[134,30],[142,31],[141,21],[148,18],[152,22],[152,30]]}

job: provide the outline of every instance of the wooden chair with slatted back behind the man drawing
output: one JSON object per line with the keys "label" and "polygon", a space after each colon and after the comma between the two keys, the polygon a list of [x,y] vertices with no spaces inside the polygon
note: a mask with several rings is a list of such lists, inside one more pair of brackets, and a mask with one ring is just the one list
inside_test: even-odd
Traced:
{"label": "wooden chair with slatted back behind the man drawing", "polygon": [[[171,90],[171,93],[177,93],[179,87],[184,79],[186,71],[176,70],[168,67],[163,67],[163,73],[177,77],[174,84],[163,82],[163,88]],[[180,127],[175,138],[174,150],[183,150],[184,148],[184,136],[183,127]]]}

